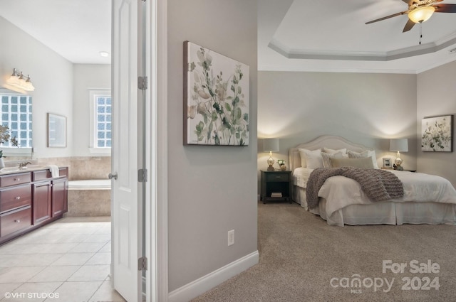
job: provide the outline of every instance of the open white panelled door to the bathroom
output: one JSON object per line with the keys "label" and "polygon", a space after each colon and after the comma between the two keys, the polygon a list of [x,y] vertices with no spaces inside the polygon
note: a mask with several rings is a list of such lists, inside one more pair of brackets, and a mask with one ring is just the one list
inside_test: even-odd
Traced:
{"label": "open white panelled door to the bathroom", "polygon": [[113,0],[113,286],[128,302],[142,301],[142,130],[138,126],[138,1]]}

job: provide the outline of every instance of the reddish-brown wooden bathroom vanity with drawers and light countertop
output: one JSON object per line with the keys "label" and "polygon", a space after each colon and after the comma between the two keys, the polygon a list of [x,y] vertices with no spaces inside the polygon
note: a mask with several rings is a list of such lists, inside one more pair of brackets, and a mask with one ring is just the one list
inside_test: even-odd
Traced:
{"label": "reddish-brown wooden bathroom vanity with drawers and light countertop", "polygon": [[0,172],[0,244],[63,217],[68,167],[54,177],[44,167]]}

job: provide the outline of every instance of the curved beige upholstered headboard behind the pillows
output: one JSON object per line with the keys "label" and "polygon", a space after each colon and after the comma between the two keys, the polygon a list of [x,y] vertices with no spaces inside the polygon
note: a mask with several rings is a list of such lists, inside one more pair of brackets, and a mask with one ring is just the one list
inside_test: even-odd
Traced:
{"label": "curved beige upholstered headboard behind the pillows", "polygon": [[323,149],[324,147],[330,149],[343,149],[346,148],[351,151],[355,152],[362,152],[366,150],[373,150],[372,148],[368,148],[361,144],[355,144],[351,141],[343,139],[340,136],[331,136],[331,135],[323,135],[318,136],[313,141],[309,141],[307,143],[299,144],[298,146],[291,148],[289,151],[289,165],[290,170],[293,171],[295,168],[299,168],[301,166],[301,156],[299,156],[299,149],[309,149],[309,150],[316,150],[316,149]]}

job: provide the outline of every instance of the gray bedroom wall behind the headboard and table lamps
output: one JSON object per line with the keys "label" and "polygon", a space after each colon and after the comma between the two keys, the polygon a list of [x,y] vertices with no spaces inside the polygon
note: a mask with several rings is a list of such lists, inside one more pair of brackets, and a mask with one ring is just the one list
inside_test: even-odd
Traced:
{"label": "gray bedroom wall behind the headboard and table lamps", "polygon": [[389,139],[408,138],[401,158],[415,169],[416,87],[416,75],[258,72],[258,168],[269,157],[262,138],[279,138],[273,157],[288,161],[290,147],[331,134],[373,147],[379,166],[382,157],[395,158]]}

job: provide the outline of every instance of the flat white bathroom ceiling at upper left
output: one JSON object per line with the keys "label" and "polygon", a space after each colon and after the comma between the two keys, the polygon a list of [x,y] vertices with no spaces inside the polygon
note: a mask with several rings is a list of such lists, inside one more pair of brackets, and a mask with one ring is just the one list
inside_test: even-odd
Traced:
{"label": "flat white bathroom ceiling at upper left", "polygon": [[110,0],[1,0],[0,16],[72,63],[110,64]]}

